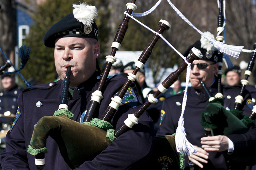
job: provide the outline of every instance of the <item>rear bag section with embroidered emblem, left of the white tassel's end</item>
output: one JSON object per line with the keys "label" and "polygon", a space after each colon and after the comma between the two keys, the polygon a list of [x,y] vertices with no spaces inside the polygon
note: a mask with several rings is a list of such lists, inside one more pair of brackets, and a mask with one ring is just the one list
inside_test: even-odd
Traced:
{"label": "rear bag section with embroidered emblem, left of the white tassel's end", "polygon": [[[176,150],[175,137],[173,135],[154,137],[153,153],[141,168],[154,170],[180,169],[180,153]],[[181,169],[184,169],[184,162]]]}

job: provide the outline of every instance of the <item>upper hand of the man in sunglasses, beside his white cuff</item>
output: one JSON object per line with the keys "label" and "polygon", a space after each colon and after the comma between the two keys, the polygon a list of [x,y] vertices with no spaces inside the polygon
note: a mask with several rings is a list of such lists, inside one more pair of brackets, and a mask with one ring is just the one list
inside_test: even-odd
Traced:
{"label": "upper hand of the man in sunglasses, beside his white cuff", "polygon": [[222,135],[203,137],[201,144],[206,151],[222,152],[228,149],[228,137]]}

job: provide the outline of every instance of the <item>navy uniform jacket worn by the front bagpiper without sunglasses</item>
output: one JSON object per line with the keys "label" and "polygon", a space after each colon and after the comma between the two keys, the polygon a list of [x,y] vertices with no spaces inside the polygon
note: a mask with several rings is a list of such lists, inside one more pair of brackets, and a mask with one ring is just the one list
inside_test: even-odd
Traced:
{"label": "navy uniform jacket worn by the front bagpiper without sunglasses", "polygon": [[[126,80],[121,76],[116,76],[106,82],[102,92],[104,98],[101,100],[98,112],[95,113],[94,117],[101,117],[111,102],[111,97],[122,87]],[[97,82],[98,80],[94,75],[73,90],[73,99],[68,100],[68,109],[74,114],[74,121],[80,122],[80,116],[87,110],[91,93],[96,90]],[[136,88],[134,84],[131,87],[132,89]],[[41,117],[51,116],[58,110],[62,89],[63,83],[58,81],[26,88],[19,95],[20,117],[11,132],[7,134],[6,149],[0,157],[2,170],[36,169],[35,156],[26,151],[34,125]],[[41,107],[36,106],[38,101],[42,102]],[[131,103],[137,105],[134,102],[129,104]],[[114,129],[123,123],[128,114],[134,113],[138,109],[138,106],[131,107],[129,104],[120,106],[115,113],[111,120]],[[138,103],[138,105],[140,104]],[[148,158],[152,144],[153,122],[145,113],[140,117],[139,124],[134,125],[132,130],[122,134],[94,160],[85,161],[76,170],[134,169]],[[46,147],[49,153],[45,155],[45,170],[70,170],[60,154],[57,143],[51,137],[47,139]]]}

